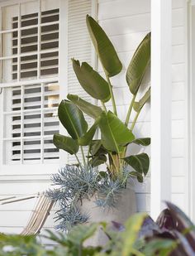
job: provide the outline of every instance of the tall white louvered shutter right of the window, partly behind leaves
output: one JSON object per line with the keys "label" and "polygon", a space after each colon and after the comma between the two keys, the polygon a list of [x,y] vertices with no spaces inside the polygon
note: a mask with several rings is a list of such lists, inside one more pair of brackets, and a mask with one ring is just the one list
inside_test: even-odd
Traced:
{"label": "tall white louvered shutter right of the window, partly behind leaves", "polygon": [[[91,41],[88,35],[86,25],[86,15],[92,12],[91,0],[69,0],[69,21],[68,21],[68,90],[70,94],[78,94],[85,100],[91,102],[91,97],[86,94],[83,88],[78,84],[78,80],[74,74],[71,58],[76,60],[87,61],[92,63]],[[91,118],[86,117],[90,126]],[[87,150],[84,150],[87,155]],[[78,157],[82,159],[81,153]],[[76,162],[74,155],[69,155],[69,163]]]}

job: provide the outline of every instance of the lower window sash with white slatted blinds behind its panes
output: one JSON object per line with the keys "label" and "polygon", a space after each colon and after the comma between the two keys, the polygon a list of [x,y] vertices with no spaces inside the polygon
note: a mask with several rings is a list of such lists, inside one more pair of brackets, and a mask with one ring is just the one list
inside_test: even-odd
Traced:
{"label": "lower window sash with white slatted blinds behind its panes", "polygon": [[[11,147],[10,154],[5,151],[7,162],[54,162],[59,158],[59,152],[52,143],[52,135],[59,132],[56,114],[59,85],[54,81],[11,90],[12,114],[5,113],[7,123],[11,123],[7,134],[10,138],[4,140],[6,148]],[[21,112],[21,109],[24,110]]]}

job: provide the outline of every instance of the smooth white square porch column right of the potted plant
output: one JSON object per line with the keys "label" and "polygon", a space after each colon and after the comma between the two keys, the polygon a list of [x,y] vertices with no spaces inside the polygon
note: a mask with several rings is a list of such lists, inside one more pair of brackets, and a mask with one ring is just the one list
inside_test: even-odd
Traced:
{"label": "smooth white square porch column right of the potted plant", "polygon": [[151,0],[151,215],[171,198],[172,0]]}

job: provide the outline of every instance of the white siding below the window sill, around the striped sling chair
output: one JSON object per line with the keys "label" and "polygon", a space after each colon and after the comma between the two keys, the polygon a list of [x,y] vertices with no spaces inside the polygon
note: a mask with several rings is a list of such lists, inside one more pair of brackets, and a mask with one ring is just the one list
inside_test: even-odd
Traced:
{"label": "white siding below the window sill, around the striped sling chair", "polygon": [[[0,195],[2,197],[37,193],[45,191],[50,186],[49,176],[12,176],[4,177],[0,182]],[[31,215],[37,199],[15,202],[9,205],[0,205],[0,231],[6,233],[20,233]],[[45,223],[45,228],[52,228],[54,211]]]}

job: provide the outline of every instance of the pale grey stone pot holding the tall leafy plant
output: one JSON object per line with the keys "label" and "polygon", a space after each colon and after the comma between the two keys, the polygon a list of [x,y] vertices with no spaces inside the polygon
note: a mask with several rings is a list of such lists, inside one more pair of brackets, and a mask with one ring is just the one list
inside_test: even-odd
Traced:
{"label": "pale grey stone pot holding the tall leafy plant", "polygon": [[[126,220],[133,214],[136,213],[136,195],[135,191],[130,187],[127,187],[121,191],[120,195],[117,198],[117,204],[114,208],[98,207],[95,204],[95,196],[90,200],[84,199],[81,203],[78,204],[79,209],[82,213],[88,213],[89,220],[86,225],[90,225],[92,222],[107,222],[108,224],[112,221],[117,221],[121,224],[124,224]],[[99,228],[98,232],[90,239],[88,239],[85,245],[104,245],[107,243],[107,235],[103,233],[102,229]]]}

